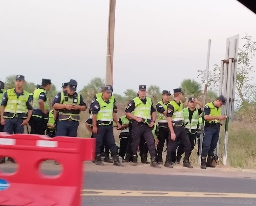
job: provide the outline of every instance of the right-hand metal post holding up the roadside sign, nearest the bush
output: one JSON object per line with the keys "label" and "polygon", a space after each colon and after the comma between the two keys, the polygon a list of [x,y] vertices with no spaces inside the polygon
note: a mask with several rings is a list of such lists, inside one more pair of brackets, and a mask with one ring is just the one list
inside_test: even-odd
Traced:
{"label": "right-hand metal post holding up the roadside sign, nearest the bush", "polygon": [[[231,69],[232,69],[232,58],[228,59],[228,71],[227,71],[227,102],[226,102],[226,113],[225,115],[229,115],[229,108],[230,108],[230,94],[231,94],[231,81],[233,79],[231,79]],[[233,86],[233,85],[232,85]],[[225,125],[225,138],[224,138],[224,154],[223,154],[223,164],[226,165],[227,164],[227,142],[228,142],[228,119],[226,120],[226,125]]]}

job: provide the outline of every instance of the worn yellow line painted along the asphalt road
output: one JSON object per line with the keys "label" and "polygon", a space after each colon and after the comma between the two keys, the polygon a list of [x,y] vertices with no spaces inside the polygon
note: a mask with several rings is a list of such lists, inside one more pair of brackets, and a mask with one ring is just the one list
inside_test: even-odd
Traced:
{"label": "worn yellow line painted along the asphalt road", "polygon": [[170,192],[170,191],[138,191],[138,190],[100,190],[82,189],[82,196],[131,196],[131,197],[228,197],[256,198],[256,194],[220,193],[220,192]]}

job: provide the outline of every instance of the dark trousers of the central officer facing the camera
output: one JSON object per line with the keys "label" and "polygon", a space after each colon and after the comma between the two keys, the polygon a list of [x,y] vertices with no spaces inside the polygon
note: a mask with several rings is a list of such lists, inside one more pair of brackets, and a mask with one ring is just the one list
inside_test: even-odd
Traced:
{"label": "dark trousers of the central officer facing the camera", "polygon": [[151,128],[145,123],[132,123],[132,155],[137,155],[141,138],[144,137],[151,157],[156,156],[155,141]]}

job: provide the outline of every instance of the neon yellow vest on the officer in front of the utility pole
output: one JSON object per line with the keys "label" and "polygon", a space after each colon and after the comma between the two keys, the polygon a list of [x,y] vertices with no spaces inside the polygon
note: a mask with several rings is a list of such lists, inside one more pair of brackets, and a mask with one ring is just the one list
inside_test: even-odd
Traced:
{"label": "neon yellow vest on the officer in front of the utility pole", "polygon": [[110,125],[113,121],[114,102],[110,101],[109,103],[107,103],[102,99],[102,97],[96,99],[95,101],[99,103],[97,121],[107,122],[107,123],[99,123],[98,125]]}

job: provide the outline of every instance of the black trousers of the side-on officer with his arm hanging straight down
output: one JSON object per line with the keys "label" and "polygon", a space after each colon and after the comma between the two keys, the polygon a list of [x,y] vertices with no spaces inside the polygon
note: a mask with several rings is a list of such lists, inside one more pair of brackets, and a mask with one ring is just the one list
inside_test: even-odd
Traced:
{"label": "black trousers of the side-on officer with his arm hanging straight down", "polygon": [[186,132],[186,129],[184,127],[174,127],[174,132],[176,135],[176,139],[174,141],[171,139],[168,141],[167,158],[170,161],[176,161],[176,149],[177,149],[177,142],[179,140],[181,144],[184,145],[184,152],[185,152],[184,160],[189,160],[191,145],[190,145],[190,140]]}

